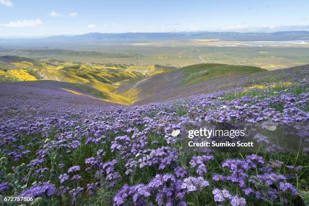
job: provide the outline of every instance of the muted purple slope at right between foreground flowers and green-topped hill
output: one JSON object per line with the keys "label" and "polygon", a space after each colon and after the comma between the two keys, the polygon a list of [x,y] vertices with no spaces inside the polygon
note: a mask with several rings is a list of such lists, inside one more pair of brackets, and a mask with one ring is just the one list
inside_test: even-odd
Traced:
{"label": "muted purple slope at right between foreground flowers and green-topped hill", "polygon": [[[173,83],[170,83],[170,88],[163,89],[159,86],[157,87],[157,91],[151,90],[152,92],[150,92],[146,89],[137,90],[136,94],[138,94],[139,97],[136,98],[136,100],[133,102],[133,105],[144,105],[151,102],[162,102],[167,100],[182,99],[192,95],[226,91],[233,88],[246,87],[255,84],[265,84],[283,80],[293,81],[297,78],[306,79],[308,78],[308,76],[303,76],[303,73],[306,73],[306,71],[308,70],[309,65],[303,65],[275,71],[226,76],[219,79],[210,79],[187,86],[175,87]],[[136,85],[136,83],[134,85]],[[128,88],[129,87],[124,86],[123,88],[119,88],[116,92]],[[148,88],[150,88],[150,86]],[[131,91],[132,90],[133,89],[131,89]],[[145,94],[145,96],[142,96],[141,94]]]}

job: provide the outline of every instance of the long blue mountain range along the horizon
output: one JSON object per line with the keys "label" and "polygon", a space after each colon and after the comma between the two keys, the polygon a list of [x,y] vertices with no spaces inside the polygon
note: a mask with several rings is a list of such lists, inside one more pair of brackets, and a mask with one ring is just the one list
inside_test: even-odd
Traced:
{"label": "long blue mountain range along the horizon", "polygon": [[51,43],[94,43],[94,42],[132,42],[151,40],[180,40],[194,38],[216,38],[225,41],[291,41],[309,40],[309,31],[279,31],[279,32],[142,32],[142,33],[86,33],[73,36],[49,36],[45,38],[2,39],[1,45]]}

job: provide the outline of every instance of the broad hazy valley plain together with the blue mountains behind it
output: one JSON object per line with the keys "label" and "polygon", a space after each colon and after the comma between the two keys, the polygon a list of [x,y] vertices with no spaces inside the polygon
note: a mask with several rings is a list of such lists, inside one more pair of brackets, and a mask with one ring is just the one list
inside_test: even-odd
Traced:
{"label": "broad hazy valley plain together with the blue mountains behind it", "polygon": [[267,70],[309,62],[309,32],[86,33],[43,38],[0,38],[0,56],[185,67],[230,64]]}

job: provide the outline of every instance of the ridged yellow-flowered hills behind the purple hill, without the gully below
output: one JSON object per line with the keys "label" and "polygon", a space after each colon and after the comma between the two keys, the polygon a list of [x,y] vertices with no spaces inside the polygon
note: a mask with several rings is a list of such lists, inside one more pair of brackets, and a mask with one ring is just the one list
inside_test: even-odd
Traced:
{"label": "ridged yellow-flowered hills behind the purple hill, without the gully below", "polygon": [[[69,52],[67,50],[63,51],[65,54]],[[55,53],[57,55],[59,55],[58,52],[59,49],[56,49]],[[73,52],[73,51],[71,52],[79,55],[79,52]],[[72,54],[71,52],[70,54]],[[50,53],[54,54],[54,50],[50,50]],[[96,53],[92,52],[89,52],[89,54],[96,55]],[[2,66],[3,68],[11,67],[12,69],[15,69],[17,71],[18,69],[23,69],[26,70],[26,72],[29,72],[30,75],[34,76],[37,79],[57,80],[57,81],[76,82],[76,83],[85,83],[87,81],[99,81],[101,83],[113,84],[123,80],[136,79],[143,77],[144,75],[149,76],[176,69],[176,67],[168,67],[161,65],[133,66],[126,64],[111,64],[111,63],[63,62],[48,58],[39,58],[37,60],[33,60],[17,56],[0,57],[0,62],[2,63],[0,66]],[[14,78],[14,74],[12,75],[13,75],[12,78]],[[23,79],[23,81],[25,80],[27,79]]]}

